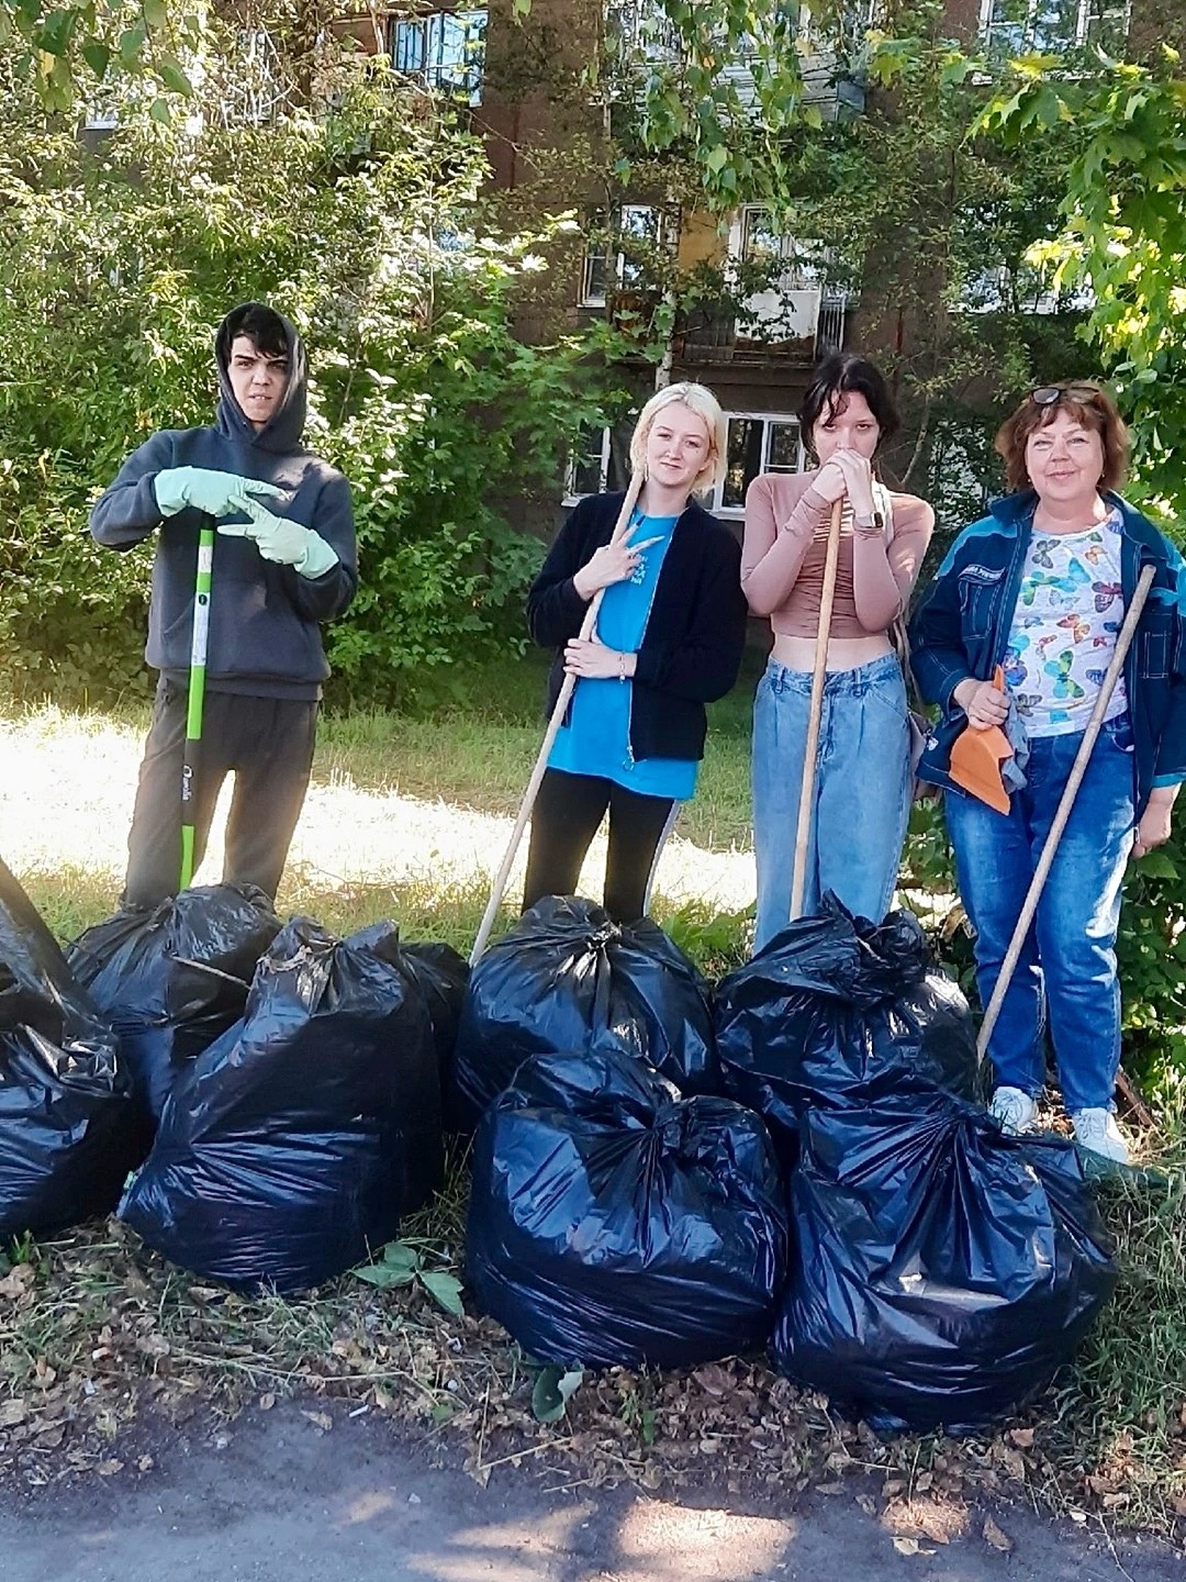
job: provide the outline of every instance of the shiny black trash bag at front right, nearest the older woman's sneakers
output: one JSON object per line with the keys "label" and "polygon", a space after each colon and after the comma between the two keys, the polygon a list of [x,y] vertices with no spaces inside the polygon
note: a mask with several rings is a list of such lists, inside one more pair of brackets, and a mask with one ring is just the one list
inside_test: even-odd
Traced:
{"label": "shiny black trash bag at front right, nearest the older woman's sneakers", "polygon": [[802,1126],[780,1372],[884,1430],[971,1432],[1037,1395],[1116,1281],[1074,1145],[942,1095]]}

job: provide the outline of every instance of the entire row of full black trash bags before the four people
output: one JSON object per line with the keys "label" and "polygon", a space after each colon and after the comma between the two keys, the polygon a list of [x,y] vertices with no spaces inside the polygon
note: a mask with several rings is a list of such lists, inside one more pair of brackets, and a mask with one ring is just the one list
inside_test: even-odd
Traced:
{"label": "entire row of full black trash bags before the four people", "polygon": [[204,1278],[300,1291],[432,1198],[444,1130],[474,1133],[476,1302],[542,1364],[769,1345],[878,1427],[974,1429],[1116,1277],[1074,1147],[985,1114],[908,913],[829,903],[713,995],[655,924],[574,897],[473,973],[234,886],[63,957],[0,864],[0,1239],[119,1204]]}

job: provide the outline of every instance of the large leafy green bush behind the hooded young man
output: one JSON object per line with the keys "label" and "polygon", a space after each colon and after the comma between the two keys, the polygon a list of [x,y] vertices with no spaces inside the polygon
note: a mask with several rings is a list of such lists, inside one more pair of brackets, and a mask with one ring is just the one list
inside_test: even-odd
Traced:
{"label": "large leafy green bush behind the hooded young man", "polygon": [[[142,687],[150,546],[98,551],[85,513],[160,427],[209,422],[210,337],[250,296],[312,346],[308,443],[356,492],[362,590],[330,628],[340,690],[387,698],[522,626],[534,538],[599,416],[587,345],[520,345],[517,293],[557,226],[498,236],[481,144],[429,95],[324,46],[293,78],[215,35],[166,120],[133,93],[98,147],[0,111],[0,641],[9,687]],[[215,595],[217,596],[217,595]]]}

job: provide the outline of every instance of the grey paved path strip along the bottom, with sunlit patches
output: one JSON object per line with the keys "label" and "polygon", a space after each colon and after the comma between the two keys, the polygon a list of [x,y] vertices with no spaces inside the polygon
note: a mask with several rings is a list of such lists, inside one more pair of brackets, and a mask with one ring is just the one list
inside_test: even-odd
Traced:
{"label": "grey paved path strip along the bottom, with sunlit patches", "polygon": [[[300,1405],[169,1432],[142,1474],[0,1493],[5,1582],[1180,1582],[1183,1558],[1025,1506],[976,1509],[949,1542],[897,1538],[859,1481],[678,1503],[590,1490],[525,1463],[481,1487],[438,1441]],[[134,1463],[133,1463],[134,1465]],[[988,1523],[988,1525],[985,1525]],[[1006,1547],[1009,1546],[1009,1547]]]}

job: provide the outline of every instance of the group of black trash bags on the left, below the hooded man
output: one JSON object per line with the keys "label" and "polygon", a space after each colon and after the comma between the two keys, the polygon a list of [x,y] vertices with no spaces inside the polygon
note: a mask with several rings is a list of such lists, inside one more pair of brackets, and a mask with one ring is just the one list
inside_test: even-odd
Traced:
{"label": "group of black trash bags on the left, below the hooded man", "polygon": [[342,1274],[441,1183],[466,976],[394,924],[281,929],[226,884],[122,910],[63,957],[0,864],[0,1236],[119,1204],[236,1288]]}

